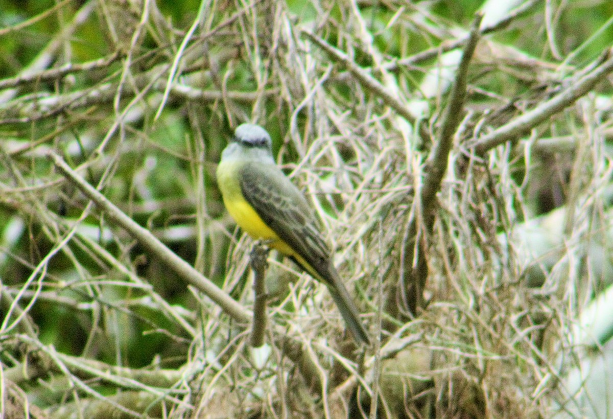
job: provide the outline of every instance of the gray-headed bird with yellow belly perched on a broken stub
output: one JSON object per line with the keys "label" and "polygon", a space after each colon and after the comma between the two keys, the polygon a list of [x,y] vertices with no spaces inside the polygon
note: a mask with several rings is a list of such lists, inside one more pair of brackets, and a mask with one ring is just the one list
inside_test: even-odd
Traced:
{"label": "gray-headed bird with yellow belly perched on a broken stub", "polygon": [[217,182],[237,224],[325,283],[356,342],[370,344],[356,306],[332,264],[315,213],[275,164],[270,135],[264,128],[238,126],[221,153]]}

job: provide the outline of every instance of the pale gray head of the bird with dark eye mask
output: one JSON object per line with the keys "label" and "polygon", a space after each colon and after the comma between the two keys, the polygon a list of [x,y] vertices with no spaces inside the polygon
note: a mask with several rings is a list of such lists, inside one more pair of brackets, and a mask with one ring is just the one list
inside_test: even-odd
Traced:
{"label": "pale gray head of the bird with dark eye mask", "polygon": [[275,163],[272,156],[272,141],[264,128],[254,124],[241,124],[234,137],[221,153],[222,161],[258,161]]}

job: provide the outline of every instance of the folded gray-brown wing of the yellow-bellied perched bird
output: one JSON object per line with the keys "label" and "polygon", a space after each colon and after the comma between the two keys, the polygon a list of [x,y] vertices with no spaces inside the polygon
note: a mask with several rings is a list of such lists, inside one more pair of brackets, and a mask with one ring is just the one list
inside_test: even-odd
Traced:
{"label": "folded gray-brown wing of the yellow-bellied perched bird", "polygon": [[[246,201],[262,221],[305,259],[319,277],[326,279],[330,249],[313,210],[298,188],[277,166],[262,163],[245,164],[240,171],[240,185]],[[309,271],[308,267],[303,268]]]}

